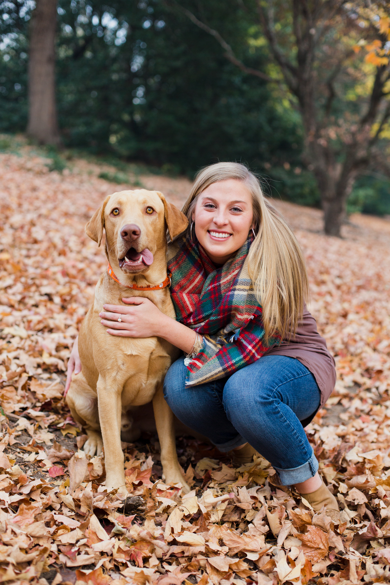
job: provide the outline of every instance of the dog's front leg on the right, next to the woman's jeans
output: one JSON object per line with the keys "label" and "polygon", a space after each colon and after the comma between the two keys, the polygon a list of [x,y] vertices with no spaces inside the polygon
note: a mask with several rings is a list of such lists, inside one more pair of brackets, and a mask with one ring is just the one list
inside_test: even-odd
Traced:
{"label": "dog's front leg on the right, next to the woman's jeans", "polygon": [[165,401],[162,384],[159,384],[153,397],[153,411],[161,447],[162,479],[167,484],[181,483],[183,491],[187,494],[190,487],[184,481],[177,461],[173,412]]}

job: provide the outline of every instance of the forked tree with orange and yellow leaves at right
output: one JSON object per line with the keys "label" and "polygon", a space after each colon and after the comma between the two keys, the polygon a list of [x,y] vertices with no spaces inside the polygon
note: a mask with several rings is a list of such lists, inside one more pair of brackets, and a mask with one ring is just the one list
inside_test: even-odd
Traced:
{"label": "forked tree with orange and yellow leaves at right", "polygon": [[275,99],[288,97],[299,110],[303,162],[316,177],[324,229],[340,236],[355,178],[372,164],[386,164],[387,146],[379,141],[390,115],[388,2],[242,0],[241,5],[254,23],[247,42],[268,47],[268,71],[236,57],[229,39],[207,21],[206,7],[198,3],[195,13],[170,4],[212,35],[231,63],[272,82]]}

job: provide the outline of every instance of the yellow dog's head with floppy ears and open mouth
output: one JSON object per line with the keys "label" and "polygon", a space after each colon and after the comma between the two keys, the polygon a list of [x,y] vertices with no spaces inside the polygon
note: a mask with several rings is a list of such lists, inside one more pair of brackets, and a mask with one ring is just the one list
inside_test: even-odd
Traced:
{"label": "yellow dog's head with floppy ears and open mouth", "polygon": [[105,229],[109,259],[117,259],[124,273],[138,274],[149,269],[156,252],[165,252],[166,229],[172,240],[187,225],[186,216],[162,193],[138,189],[108,195],[85,232],[100,246]]}

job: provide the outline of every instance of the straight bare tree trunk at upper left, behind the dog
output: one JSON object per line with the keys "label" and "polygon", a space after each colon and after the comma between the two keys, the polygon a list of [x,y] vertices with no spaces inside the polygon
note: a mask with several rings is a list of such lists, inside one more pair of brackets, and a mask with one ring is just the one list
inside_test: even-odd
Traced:
{"label": "straight bare tree trunk at upper left, behind the dog", "polygon": [[39,144],[59,144],[55,37],[57,1],[37,0],[30,25],[29,122],[27,133]]}

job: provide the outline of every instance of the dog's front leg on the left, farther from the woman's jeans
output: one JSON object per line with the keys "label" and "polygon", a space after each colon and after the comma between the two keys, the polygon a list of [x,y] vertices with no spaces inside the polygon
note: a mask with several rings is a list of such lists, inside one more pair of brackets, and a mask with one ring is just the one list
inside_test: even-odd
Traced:
{"label": "dog's front leg on the left, farther from the woman's jeans", "polygon": [[126,497],[124,454],[121,448],[123,385],[115,378],[99,376],[97,382],[101,435],[104,445],[105,485]]}

